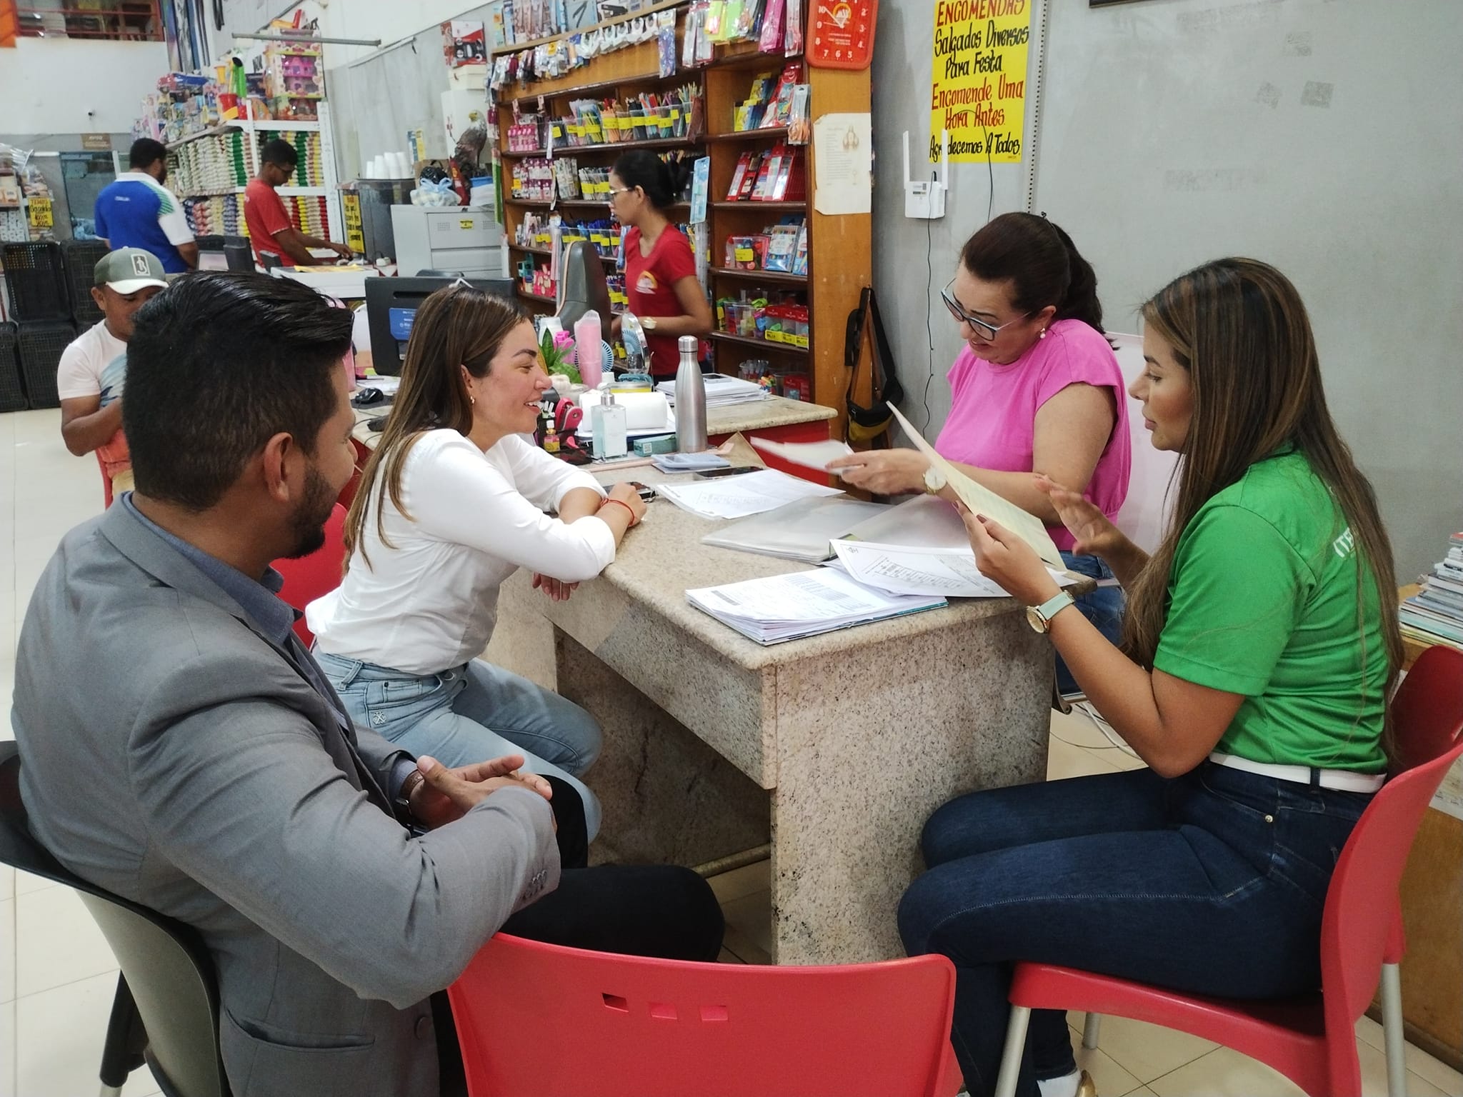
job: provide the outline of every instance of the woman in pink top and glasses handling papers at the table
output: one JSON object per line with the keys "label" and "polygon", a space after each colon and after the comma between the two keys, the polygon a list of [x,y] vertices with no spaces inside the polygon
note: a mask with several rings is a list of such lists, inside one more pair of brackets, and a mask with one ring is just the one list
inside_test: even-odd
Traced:
{"label": "woman in pink top and glasses handling papers at the table", "polygon": [[[941,291],[966,347],[949,367],[949,415],[941,456],[1046,522],[1067,566],[1112,578],[1096,556],[1071,551],[1072,535],[1033,472],[1081,491],[1109,518],[1128,496],[1128,410],[1122,370],[1102,333],[1091,265],[1071,237],[1033,214],[1002,214],[966,241],[960,269]],[[830,465],[876,494],[954,494],[917,449],[876,449]],[[926,478],[926,474],[930,474]],[[1122,592],[1102,587],[1077,600],[1116,642]],[[1077,690],[1058,660],[1058,686]]]}

